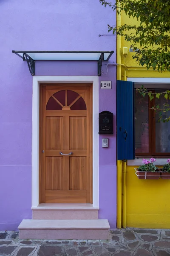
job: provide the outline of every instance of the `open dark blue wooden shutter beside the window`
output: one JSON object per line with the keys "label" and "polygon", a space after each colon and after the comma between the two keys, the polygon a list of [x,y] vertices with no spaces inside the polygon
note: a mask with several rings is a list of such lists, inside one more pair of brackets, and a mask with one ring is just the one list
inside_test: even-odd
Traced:
{"label": "open dark blue wooden shutter beside the window", "polygon": [[117,159],[135,159],[134,83],[117,81]]}

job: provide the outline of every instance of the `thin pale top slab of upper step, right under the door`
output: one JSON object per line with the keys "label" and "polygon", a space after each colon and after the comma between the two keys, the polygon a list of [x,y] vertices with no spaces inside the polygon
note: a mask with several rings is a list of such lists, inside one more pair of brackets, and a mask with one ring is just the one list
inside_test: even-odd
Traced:
{"label": "thin pale top slab of upper step, right under the door", "polygon": [[31,210],[99,210],[93,204],[38,204],[37,207],[31,207]]}

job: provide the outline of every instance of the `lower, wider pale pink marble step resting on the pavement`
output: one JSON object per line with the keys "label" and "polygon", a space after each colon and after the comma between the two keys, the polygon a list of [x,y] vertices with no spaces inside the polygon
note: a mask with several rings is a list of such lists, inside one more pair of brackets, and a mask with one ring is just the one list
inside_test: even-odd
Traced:
{"label": "lower, wider pale pink marble step resting on the pavement", "polygon": [[28,220],[19,227],[20,239],[108,239],[108,220]]}

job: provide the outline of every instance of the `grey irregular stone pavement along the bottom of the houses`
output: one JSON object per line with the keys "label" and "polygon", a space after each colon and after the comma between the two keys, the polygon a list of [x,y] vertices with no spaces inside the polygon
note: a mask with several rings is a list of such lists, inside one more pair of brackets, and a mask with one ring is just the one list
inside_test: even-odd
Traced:
{"label": "grey irregular stone pavement along the bottom of the houses", "polygon": [[0,231],[0,256],[170,256],[170,230],[110,230],[109,240],[19,239]]}

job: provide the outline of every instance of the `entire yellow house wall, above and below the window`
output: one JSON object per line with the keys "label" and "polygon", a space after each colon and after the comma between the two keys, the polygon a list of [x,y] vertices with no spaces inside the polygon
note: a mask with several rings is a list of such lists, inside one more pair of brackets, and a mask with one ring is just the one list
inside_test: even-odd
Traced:
{"label": "entire yellow house wall, above and below the window", "polygon": [[[122,24],[134,22],[136,21],[121,14]],[[126,64],[126,68],[121,66],[122,80],[127,77],[170,77],[170,72],[159,73],[139,67],[132,59],[134,53],[129,52],[130,45],[121,38],[121,64]],[[126,59],[122,55],[123,47],[128,48]],[[170,228],[170,180],[139,180],[135,175],[135,166],[119,166],[118,174],[122,172],[124,181],[122,178],[122,184],[119,184],[120,180],[117,183],[118,195],[123,192],[122,216],[119,216],[118,211],[118,220],[121,219],[121,223],[124,223],[123,227]],[[119,207],[119,201],[117,203]],[[117,227],[120,225],[118,221]]]}

